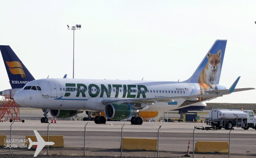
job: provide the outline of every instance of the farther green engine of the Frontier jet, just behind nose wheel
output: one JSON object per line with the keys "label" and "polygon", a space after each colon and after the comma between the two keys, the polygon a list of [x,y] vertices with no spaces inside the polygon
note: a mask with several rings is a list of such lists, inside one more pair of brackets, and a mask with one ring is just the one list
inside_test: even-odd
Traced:
{"label": "farther green engine of the Frontier jet, just behind nose wheel", "polygon": [[52,117],[56,118],[69,118],[83,112],[84,110],[50,110]]}

